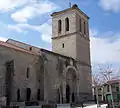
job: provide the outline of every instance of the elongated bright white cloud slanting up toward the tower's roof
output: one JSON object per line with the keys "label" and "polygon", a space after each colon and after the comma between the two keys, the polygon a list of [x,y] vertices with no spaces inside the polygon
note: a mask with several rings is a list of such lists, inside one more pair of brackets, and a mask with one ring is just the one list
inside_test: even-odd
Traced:
{"label": "elongated bright white cloud slanting up toward the tower's roof", "polygon": [[34,2],[13,13],[11,18],[17,22],[23,23],[27,22],[31,18],[40,16],[41,14],[51,12],[56,9],[56,7],[57,6],[55,4],[48,1]]}

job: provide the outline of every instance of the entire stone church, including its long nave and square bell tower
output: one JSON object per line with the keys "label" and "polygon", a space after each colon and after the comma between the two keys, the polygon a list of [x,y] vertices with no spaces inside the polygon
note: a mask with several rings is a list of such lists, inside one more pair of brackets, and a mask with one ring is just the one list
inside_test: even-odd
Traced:
{"label": "entire stone church, including its long nave and square bell tower", "polygon": [[0,42],[0,96],[10,102],[91,100],[89,17],[77,5],[52,15],[52,51]]}

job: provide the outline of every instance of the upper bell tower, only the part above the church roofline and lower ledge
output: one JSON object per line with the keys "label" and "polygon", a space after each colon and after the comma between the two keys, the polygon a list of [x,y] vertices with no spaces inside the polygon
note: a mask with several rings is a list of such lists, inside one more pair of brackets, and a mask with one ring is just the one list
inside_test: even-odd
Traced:
{"label": "upper bell tower, only the part above the church roofline and lower ledge", "polygon": [[89,17],[76,4],[51,16],[52,51],[90,64]]}

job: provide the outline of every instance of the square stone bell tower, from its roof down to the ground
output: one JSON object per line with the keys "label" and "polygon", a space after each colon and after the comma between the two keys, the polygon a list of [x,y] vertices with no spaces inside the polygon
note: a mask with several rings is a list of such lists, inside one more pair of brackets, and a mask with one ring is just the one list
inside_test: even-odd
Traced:
{"label": "square stone bell tower, from its roof down to the ground", "polygon": [[79,99],[91,99],[89,17],[76,4],[52,15],[52,51],[77,61]]}

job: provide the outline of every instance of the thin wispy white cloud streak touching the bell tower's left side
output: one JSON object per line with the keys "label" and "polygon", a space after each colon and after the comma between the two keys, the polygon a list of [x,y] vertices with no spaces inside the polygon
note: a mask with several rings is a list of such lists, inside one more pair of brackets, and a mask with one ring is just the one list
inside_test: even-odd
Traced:
{"label": "thin wispy white cloud streak touching the bell tower's left side", "polygon": [[24,32],[26,29],[35,30],[41,33],[41,39],[43,41],[51,43],[52,28],[51,28],[51,25],[48,24],[48,22],[40,26],[30,25],[30,24],[8,25],[8,29],[14,30],[17,32]]}

